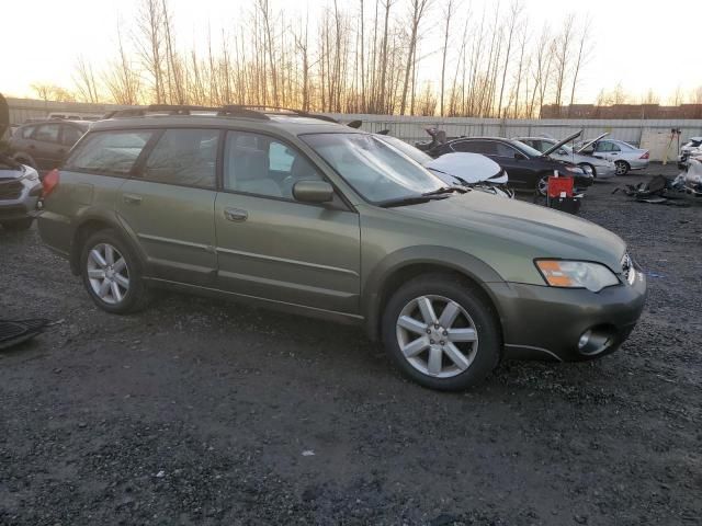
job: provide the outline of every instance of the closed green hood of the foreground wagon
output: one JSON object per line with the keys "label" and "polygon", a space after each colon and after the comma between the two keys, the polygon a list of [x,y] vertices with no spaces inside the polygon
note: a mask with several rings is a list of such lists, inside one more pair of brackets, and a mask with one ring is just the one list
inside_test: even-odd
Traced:
{"label": "closed green hood of the foreground wagon", "polygon": [[[422,221],[466,232],[466,248],[488,240],[489,250],[519,251],[535,258],[595,261],[621,273],[626,244],[613,232],[570,214],[484,192],[397,208]],[[475,237],[471,239],[471,237]]]}

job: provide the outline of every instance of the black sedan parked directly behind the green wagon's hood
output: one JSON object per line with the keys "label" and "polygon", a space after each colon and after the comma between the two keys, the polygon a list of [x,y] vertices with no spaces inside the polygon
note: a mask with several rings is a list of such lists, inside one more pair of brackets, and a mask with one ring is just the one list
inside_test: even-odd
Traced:
{"label": "black sedan parked directly behind the green wagon's hood", "polygon": [[548,176],[555,171],[575,179],[576,191],[592,184],[592,174],[571,162],[558,161],[519,140],[500,137],[461,137],[435,146],[428,153],[438,158],[452,152],[472,152],[489,157],[509,173],[509,184],[517,190],[546,195]]}

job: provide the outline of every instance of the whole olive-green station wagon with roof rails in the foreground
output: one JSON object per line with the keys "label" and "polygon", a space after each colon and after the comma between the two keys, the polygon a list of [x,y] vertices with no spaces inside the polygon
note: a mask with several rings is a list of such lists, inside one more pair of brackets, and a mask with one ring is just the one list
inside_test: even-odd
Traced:
{"label": "whole olive-green station wagon with roof rails in the foreground", "polygon": [[41,236],[107,312],[160,286],[360,323],[444,390],[503,356],[609,354],[642,312],[644,274],[592,222],[449,187],[339,124],[179,113],[101,121],[44,179]]}

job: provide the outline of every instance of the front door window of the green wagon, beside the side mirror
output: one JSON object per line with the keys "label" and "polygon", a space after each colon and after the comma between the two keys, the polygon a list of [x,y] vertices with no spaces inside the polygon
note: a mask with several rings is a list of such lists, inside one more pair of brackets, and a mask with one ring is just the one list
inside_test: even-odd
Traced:
{"label": "front door window of the green wagon, beside the side mirror", "polygon": [[271,137],[229,132],[224,149],[224,188],[293,199],[297,181],[324,178],[299,151]]}

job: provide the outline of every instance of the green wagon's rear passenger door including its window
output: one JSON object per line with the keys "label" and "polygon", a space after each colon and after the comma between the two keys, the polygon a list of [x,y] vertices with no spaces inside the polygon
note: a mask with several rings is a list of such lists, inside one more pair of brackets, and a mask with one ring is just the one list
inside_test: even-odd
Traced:
{"label": "green wagon's rear passenger door including its window", "polygon": [[121,188],[117,214],[138,239],[156,278],[214,284],[219,135],[213,128],[161,130]]}

